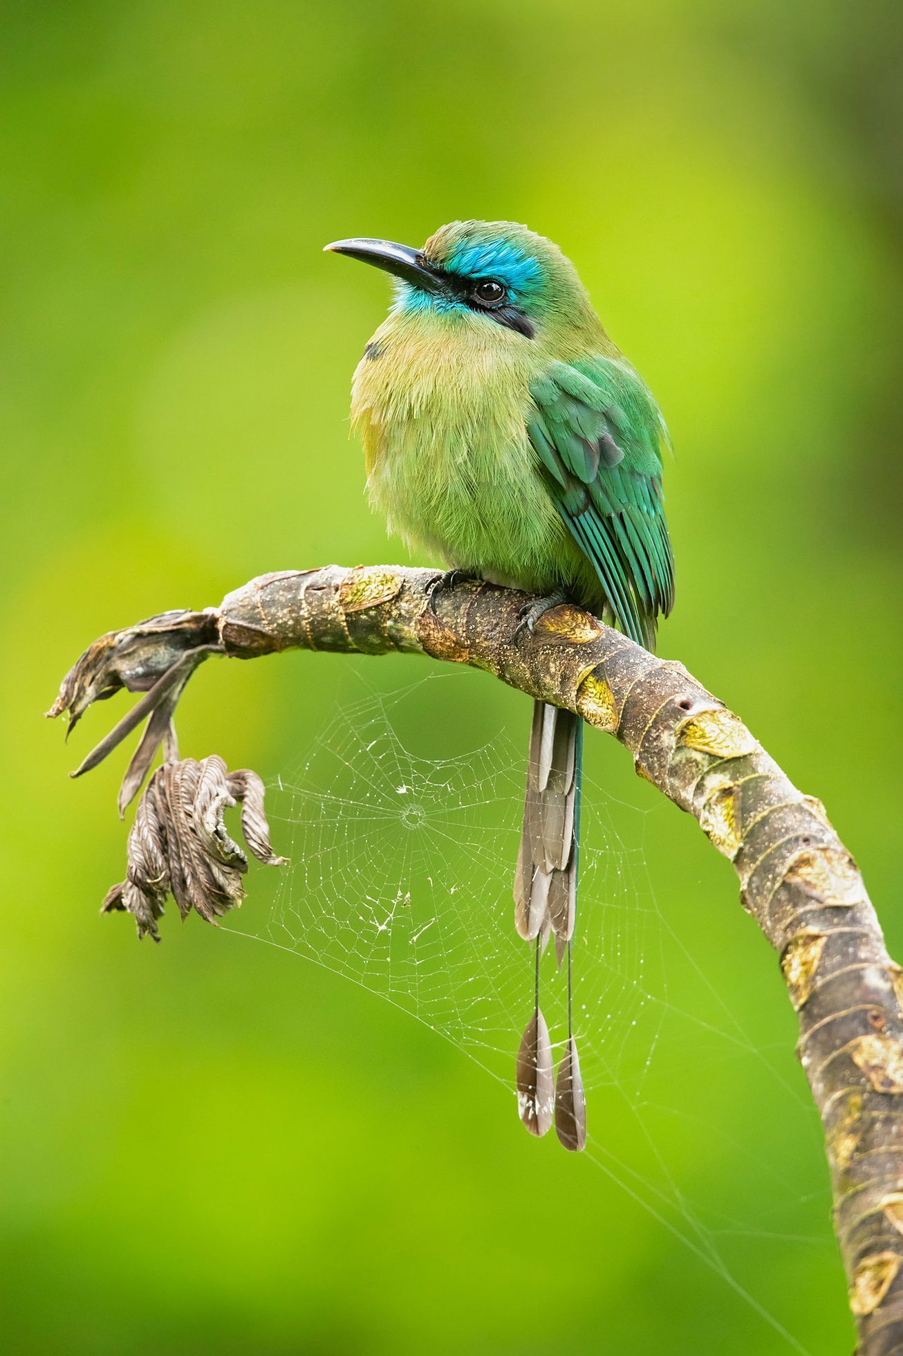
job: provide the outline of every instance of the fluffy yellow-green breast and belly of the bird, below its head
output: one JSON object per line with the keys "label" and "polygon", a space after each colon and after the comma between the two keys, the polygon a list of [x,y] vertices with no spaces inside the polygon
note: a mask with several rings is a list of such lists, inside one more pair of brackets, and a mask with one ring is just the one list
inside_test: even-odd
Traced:
{"label": "fluffy yellow-green breast and belly of the bird, below its head", "polygon": [[563,523],[526,434],[533,354],[377,331],[354,378],[370,498],[390,532],[450,564],[525,584]]}

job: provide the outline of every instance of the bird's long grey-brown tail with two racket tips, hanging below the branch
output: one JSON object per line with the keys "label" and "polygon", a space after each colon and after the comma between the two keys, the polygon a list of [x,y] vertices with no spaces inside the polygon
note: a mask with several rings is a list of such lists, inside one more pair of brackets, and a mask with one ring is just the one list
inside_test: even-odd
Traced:
{"label": "bird's long grey-brown tail with two racket tips, hanging below the branch", "polygon": [[[518,1052],[518,1106],[533,1135],[552,1124],[565,1149],[586,1143],[586,1105],[571,1029],[571,937],[576,915],[583,721],[569,711],[533,704],[523,833],[514,880],[515,926],[536,942],[533,1017]],[[559,967],[568,957],[568,1044],[552,1077],[552,1045],[540,1010],[540,956],[555,937]]]}

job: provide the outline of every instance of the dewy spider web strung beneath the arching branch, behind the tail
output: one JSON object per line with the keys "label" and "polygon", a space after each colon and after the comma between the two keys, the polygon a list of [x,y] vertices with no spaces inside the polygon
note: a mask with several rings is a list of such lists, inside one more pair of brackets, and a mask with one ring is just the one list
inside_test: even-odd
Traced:
{"label": "dewy spider web strung beneath the arching branch, behind the tail", "polygon": [[[335,715],[309,757],[267,786],[273,841],[290,858],[274,873],[268,915],[247,930],[248,906],[241,928],[225,926],[363,986],[452,1041],[511,1096],[518,1134],[514,1058],[533,1009],[534,964],[533,946],[515,933],[511,898],[526,727],[523,749],[500,731],[438,759],[411,751],[399,734],[412,702],[422,708],[426,698],[442,709],[446,685],[458,677],[430,674],[382,693],[361,671],[343,674]],[[781,1176],[776,1163],[770,1205],[751,1207],[738,1192],[719,1208],[691,1203],[679,1180],[686,1146],[696,1157],[700,1143],[710,1143],[705,1090],[715,1105],[721,1070],[738,1077],[739,1064],[747,1085],[761,1083],[770,1102],[778,1097],[785,1127],[797,1123],[803,1139],[818,1140],[818,1119],[778,1052],[747,1037],[659,907],[647,854],[654,818],[584,777],[574,940],[574,1031],[590,1128],[582,1157],[759,1313],[784,1349],[804,1352],[738,1275],[755,1242],[832,1246],[818,1231],[828,1207],[823,1178],[812,1170],[801,1189],[800,1165]],[[549,946],[540,1001],[556,1064],[567,1039],[565,972]],[[744,1131],[748,1153],[761,1159],[761,1132],[743,1125],[729,1153],[738,1153],[736,1140],[747,1147]],[[629,1153],[616,1153],[613,1140]],[[811,1157],[820,1165],[820,1151]],[[800,1219],[812,1233],[799,1233]]]}

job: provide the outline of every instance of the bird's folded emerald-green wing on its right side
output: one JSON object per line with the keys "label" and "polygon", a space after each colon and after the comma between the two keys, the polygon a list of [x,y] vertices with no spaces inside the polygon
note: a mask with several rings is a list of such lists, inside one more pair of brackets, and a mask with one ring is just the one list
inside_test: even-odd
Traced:
{"label": "bird's folded emerald-green wing on its right side", "polygon": [[652,648],[658,616],[674,603],[658,405],[626,362],[603,357],[552,363],[530,395],[527,435],[555,504],[621,629]]}

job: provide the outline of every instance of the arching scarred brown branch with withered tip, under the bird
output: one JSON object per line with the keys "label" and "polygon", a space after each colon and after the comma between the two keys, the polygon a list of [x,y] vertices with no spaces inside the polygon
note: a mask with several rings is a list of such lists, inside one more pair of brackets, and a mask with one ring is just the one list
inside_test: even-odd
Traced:
{"label": "arching scarred brown branch with withered tip, under the bird", "polygon": [[[264,575],[218,609],[164,613],[103,636],[66,675],[49,715],[66,711],[73,724],[118,687],[148,693],[79,769],[95,766],[148,716],[121,800],[134,793],[168,736],[191,671],[216,652],[237,659],[289,648],[430,655],[484,669],[614,735],[637,773],[691,814],[732,861],[740,902],[780,956],[800,1021],[799,1058],[824,1125],[860,1352],[900,1356],[903,972],[887,955],[862,877],[823,805],[796,791],[746,725],[682,664],[656,659],[569,603],[545,613],[530,632],[518,626],[523,594],[479,582],[435,587],[435,579],[395,565]],[[214,773],[233,793],[254,776]],[[273,860],[262,799],[258,811],[259,854]],[[176,829],[191,824],[190,807],[183,814]],[[213,831],[216,838],[217,824]],[[160,833],[167,848],[165,826]],[[226,842],[232,862],[237,849]],[[172,854],[171,843],[167,850]],[[130,854],[130,880],[132,868]],[[152,884],[159,895],[160,877]],[[117,888],[118,902],[126,887]],[[222,907],[233,894],[230,884]],[[209,904],[209,915],[222,907]]]}

